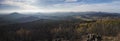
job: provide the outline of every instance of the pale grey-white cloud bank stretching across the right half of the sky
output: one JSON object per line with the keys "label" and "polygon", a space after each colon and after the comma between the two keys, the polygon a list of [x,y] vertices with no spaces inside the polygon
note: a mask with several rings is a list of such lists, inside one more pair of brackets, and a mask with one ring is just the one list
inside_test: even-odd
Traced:
{"label": "pale grey-white cloud bank stretching across the right half of the sky", "polygon": [[53,8],[60,11],[103,11],[103,12],[120,12],[120,1],[114,1],[111,3],[99,3],[99,4],[79,4],[79,3],[66,3],[55,4]]}

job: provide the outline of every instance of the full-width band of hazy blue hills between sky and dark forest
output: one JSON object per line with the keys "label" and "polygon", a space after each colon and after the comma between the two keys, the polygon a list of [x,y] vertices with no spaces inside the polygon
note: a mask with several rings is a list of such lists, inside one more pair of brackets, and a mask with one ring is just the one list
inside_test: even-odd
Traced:
{"label": "full-width band of hazy blue hills between sky and dark forest", "polygon": [[0,15],[0,24],[8,23],[24,23],[32,22],[40,19],[48,20],[67,20],[67,21],[78,21],[78,20],[96,20],[103,18],[120,18],[119,13],[107,13],[107,12],[57,12],[57,13],[33,13],[21,14],[13,12],[6,15]]}

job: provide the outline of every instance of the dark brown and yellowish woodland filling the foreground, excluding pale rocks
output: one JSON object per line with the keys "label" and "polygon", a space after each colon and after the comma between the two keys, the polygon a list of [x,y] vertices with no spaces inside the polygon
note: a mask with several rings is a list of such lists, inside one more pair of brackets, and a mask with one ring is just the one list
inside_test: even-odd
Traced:
{"label": "dark brown and yellowish woodland filling the foreground, excluding pale rocks", "polygon": [[103,41],[119,41],[120,19],[94,21],[34,21],[0,26],[0,41],[86,41],[100,34]]}

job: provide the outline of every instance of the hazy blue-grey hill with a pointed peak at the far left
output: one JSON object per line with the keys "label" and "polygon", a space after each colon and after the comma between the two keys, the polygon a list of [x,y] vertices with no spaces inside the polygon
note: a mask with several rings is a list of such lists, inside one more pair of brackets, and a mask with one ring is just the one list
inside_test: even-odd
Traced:
{"label": "hazy blue-grey hill with a pointed peak at the far left", "polygon": [[12,24],[12,23],[23,23],[23,22],[31,22],[37,20],[39,18],[33,17],[30,15],[24,15],[17,12],[1,15],[0,24]]}

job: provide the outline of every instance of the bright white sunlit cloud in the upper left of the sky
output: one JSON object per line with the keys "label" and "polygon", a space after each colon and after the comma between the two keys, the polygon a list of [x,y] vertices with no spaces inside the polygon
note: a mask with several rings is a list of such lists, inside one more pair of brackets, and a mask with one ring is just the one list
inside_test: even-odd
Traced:
{"label": "bright white sunlit cloud in the upper left of the sky", "polygon": [[[17,6],[18,8],[20,7],[21,9],[28,9],[28,10],[34,10],[34,9],[39,9],[37,6],[31,5],[27,2],[33,2],[33,1],[17,1],[17,0],[5,0],[4,2],[1,2],[0,4],[6,4],[6,5],[11,5],[11,6]],[[17,8],[16,8],[17,9]]]}

